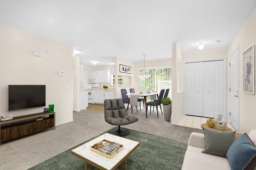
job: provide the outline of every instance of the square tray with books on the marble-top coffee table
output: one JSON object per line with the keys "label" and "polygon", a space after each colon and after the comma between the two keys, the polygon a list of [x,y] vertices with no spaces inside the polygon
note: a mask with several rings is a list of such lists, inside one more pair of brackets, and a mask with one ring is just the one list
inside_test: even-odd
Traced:
{"label": "square tray with books on the marble-top coffee table", "polygon": [[105,156],[107,158],[113,158],[119,151],[124,149],[124,146],[116,143],[111,142],[109,140],[102,140],[99,143],[96,143],[90,148],[92,151]]}

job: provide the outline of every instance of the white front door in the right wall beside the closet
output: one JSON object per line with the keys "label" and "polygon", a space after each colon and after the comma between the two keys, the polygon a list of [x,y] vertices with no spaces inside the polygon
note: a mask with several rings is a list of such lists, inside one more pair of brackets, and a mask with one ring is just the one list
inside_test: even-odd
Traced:
{"label": "white front door in the right wall beside the closet", "polygon": [[230,56],[230,89],[229,89],[229,122],[239,130],[239,71],[238,71],[238,48]]}

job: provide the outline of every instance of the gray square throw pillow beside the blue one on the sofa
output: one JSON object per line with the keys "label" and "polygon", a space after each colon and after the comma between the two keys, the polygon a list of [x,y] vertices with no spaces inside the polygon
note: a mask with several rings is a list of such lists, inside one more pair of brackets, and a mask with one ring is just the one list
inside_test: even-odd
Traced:
{"label": "gray square throw pillow beside the blue one on the sofa", "polygon": [[208,128],[203,130],[205,149],[202,153],[226,157],[229,147],[235,140],[235,131],[217,131]]}

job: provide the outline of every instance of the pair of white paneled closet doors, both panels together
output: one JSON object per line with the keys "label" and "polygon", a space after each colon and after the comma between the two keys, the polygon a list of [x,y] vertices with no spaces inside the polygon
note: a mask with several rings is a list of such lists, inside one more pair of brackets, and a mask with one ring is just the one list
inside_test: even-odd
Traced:
{"label": "pair of white paneled closet doors, both panels together", "polygon": [[185,114],[217,117],[225,112],[224,61],[186,63]]}

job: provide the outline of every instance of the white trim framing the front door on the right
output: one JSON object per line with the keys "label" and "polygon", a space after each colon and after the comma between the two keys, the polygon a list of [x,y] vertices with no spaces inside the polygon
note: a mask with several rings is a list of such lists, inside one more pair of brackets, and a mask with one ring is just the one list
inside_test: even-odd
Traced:
{"label": "white trim framing the front door on the right", "polygon": [[[235,47],[234,48],[234,50],[232,51],[232,53],[230,53],[230,55],[229,55],[229,63],[230,63],[230,57],[231,57],[231,55],[233,55],[235,52],[236,52],[236,50],[237,50],[237,52],[238,52],[238,60],[237,60],[237,62],[238,62],[238,82],[237,82],[237,84],[238,84],[238,96],[240,96],[240,94],[239,94],[239,45],[237,46],[237,47]],[[228,63],[228,64],[229,64]],[[230,88],[230,66],[229,66],[229,87],[228,87],[228,113],[227,113],[227,115],[228,115],[228,122],[229,122],[229,124],[231,125],[231,127],[233,128],[233,129],[236,129],[234,126],[233,126],[233,124],[232,123],[230,123],[230,118],[229,118],[229,112],[230,112],[230,91],[229,91],[229,88]],[[238,129],[236,129],[237,131],[239,131],[239,122],[240,122],[240,117],[239,117],[239,101],[240,101],[240,97],[238,97]]]}

